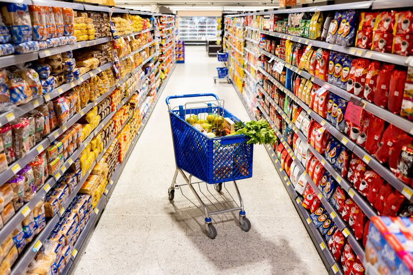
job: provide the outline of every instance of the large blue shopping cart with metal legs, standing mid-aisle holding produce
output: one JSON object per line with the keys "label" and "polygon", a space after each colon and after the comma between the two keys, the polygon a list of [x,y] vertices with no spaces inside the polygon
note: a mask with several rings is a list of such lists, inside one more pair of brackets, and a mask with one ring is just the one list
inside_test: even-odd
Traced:
{"label": "large blue shopping cart with metal legs, standing mid-aisle holding produce", "polygon": [[[199,96],[213,96],[216,100],[190,102],[184,106],[179,105],[172,109],[169,104],[170,99]],[[224,109],[223,101],[214,93],[172,95],[166,98],[166,104],[168,105],[169,118],[171,121],[176,163],[172,184],[168,189],[170,201],[174,198],[175,189],[180,189],[182,192],[182,188],[180,187],[188,185],[201,205],[200,208],[205,213],[205,229],[207,230],[208,237],[214,239],[217,236],[217,231],[212,224],[212,218],[210,216],[231,211],[239,210],[241,229],[249,231],[251,223],[245,217],[244,203],[236,180],[252,177],[253,145],[247,144],[249,138],[245,135],[210,138],[199,131],[198,124],[191,125],[188,123],[188,121],[194,122],[197,118],[211,120],[212,117],[215,117],[217,119],[214,119],[214,122],[211,123],[215,123],[216,127],[219,128],[220,125],[222,125],[219,122],[220,119],[222,119],[221,117],[230,118],[233,121],[239,121],[239,119]],[[207,128],[208,126],[204,127]],[[184,171],[189,174],[188,177]],[[182,174],[186,184],[176,184],[178,172]],[[193,182],[193,177],[198,178],[200,181]],[[210,198],[201,191],[199,184],[202,182],[207,186]],[[225,182],[234,182],[239,204],[233,196],[230,195],[228,189],[225,187]],[[210,202],[209,205],[205,205],[202,202],[201,197],[193,187],[193,185],[196,184],[202,195]],[[210,184],[214,184],[216,191],[218,191],[218,198],[209,191],[208,186]],[[229,199],[226,194],[221,193],[222,186],[228,191],[231,199]],[[234,204],[236,207],[231,207],[234,206]],[[212,211],[212,208],[216,209],[216,211]]]}

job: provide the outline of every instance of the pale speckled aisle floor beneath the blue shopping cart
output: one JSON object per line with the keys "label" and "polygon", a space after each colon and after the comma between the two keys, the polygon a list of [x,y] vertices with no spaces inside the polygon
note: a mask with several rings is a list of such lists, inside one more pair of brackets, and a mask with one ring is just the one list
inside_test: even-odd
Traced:
{"label": "pale speckled aisle floor beneath the blue shopping cart", "polygon": [[227,213],[214,218],[218,235],[210,240],[202,213],[179,190],[168,201],[175,163],[165,97],[216,92],[248,120],[233,86],[214,85],[219,64],[205,56],[203,46],[186,47],[186,63],[167,83],[75,274],[326,274],[263,146],[254,147],[253,177],[239,181],[249,232],[239,228],[238,213]]}

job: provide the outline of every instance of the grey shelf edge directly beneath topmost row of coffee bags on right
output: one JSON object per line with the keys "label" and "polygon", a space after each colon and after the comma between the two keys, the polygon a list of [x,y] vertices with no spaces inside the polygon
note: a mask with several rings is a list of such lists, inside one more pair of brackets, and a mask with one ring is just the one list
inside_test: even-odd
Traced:
{"label": "grey shelf edge directly beneath topmost row of coffee bags on right", "polygon": [[277,33],[277,32],[269,32],[269,31],[263,31],[263,30],[260,30],[260,32],[263,34],[270,35],[270,36],[292,40],[292,41],[299,42],[305,45],[311,44],[315,47],[331,49],[332,51],[337,51],[337,52],[341,52],[341,53],[345,53],[345,54],[349,54],[349,55],[353,55],[357,57],[364,57],[364,58],[374,59],[374,60],[393,63],[397,65],[402,65],[402,66],[408,65],[407,56],[401,56],[401,55],[389,54],[389,53],[380,53],[380,52],[370,51],[367,49],[357,48],[357,47],[345,47],[342,45],[331,44],[328,42],[312,40],[312,39],[307,39],[307,38],[303,38],[299,36],[293,36],[293,35],[282,34],[282,33]]}

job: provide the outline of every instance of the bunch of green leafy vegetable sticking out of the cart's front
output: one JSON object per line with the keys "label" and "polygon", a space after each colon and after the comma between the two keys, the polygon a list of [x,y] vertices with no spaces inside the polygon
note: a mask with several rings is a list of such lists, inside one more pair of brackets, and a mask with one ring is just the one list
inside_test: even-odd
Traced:
{"label": "bunch of green leafy vegetable sticking out of the cart's front", "polygon": [[[242,128],[241,128],[242,123]],[[248,144],[274,144],[277,142],[277,136],[274,130],[271,129],[270,124],[265,119],[260,119],[259,121],[239,121],[236,124],[235,134],[244,134],[250,139]],[[238,128],[238,130],[237,130]]]}

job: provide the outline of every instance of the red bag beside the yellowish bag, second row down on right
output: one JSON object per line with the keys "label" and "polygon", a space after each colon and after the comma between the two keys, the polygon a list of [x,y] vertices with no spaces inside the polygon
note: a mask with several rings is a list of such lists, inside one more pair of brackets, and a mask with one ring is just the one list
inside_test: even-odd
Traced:
{"label": "red bag beside the yellowish bag, second row down on right", "polygon": [[387,104],[387,109],[395,114],[400,114],[406,77],[407,72],[404,70],[394,70],[392,72],[389,85],[389,101]]}

